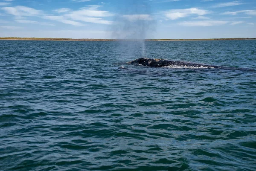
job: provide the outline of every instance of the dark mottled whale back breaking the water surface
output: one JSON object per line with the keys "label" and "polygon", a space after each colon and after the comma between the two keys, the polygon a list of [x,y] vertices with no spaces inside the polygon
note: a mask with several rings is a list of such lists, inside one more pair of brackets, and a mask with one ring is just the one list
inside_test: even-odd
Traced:
{"label": "dark mottled whale back breaking the water surface", "polygon": [[138,58],[128,64],[139,64],[146,67],[178,67],[178,68],[223,68],[217,65],[197,64],[186,61],[172,61],[166,59]]}

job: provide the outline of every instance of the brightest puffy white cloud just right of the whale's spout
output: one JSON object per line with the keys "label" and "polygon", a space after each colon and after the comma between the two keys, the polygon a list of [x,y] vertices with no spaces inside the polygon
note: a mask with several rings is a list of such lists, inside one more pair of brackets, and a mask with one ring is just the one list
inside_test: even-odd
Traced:
{"label": "brightest puffy white cloud just right of the whale's spout", "polygon": [[164,12],[165,16],[168,19],[176,20],[178,18],[187,17],[191,14],[196,14],[198,16],[205,15],[211,13],[210,11],[198,9],[198,8],[190,8],[190,9],[172,9]]}

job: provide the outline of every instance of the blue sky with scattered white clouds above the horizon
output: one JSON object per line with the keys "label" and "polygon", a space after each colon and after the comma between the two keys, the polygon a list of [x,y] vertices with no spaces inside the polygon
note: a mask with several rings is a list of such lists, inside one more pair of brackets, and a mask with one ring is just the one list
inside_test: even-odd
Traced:
{"label": "blue sky with scattered white clouds above the horizon", "polygon": [[256,38],[256,0],[0,0],[0,37],[132,35]]}

